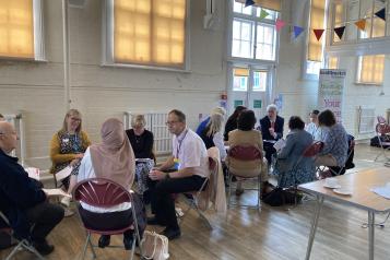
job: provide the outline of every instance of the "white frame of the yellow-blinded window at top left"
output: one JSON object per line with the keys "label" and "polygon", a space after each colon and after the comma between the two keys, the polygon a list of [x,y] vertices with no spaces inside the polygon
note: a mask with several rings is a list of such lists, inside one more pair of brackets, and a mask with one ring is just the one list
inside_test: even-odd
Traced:
{"label": "white frame of the yellow-blinded window at top left", "polygon": [[45,52],[43,8],[43,0],[33,0],[34,58],[0,56],[0,60],[47,62]]}

